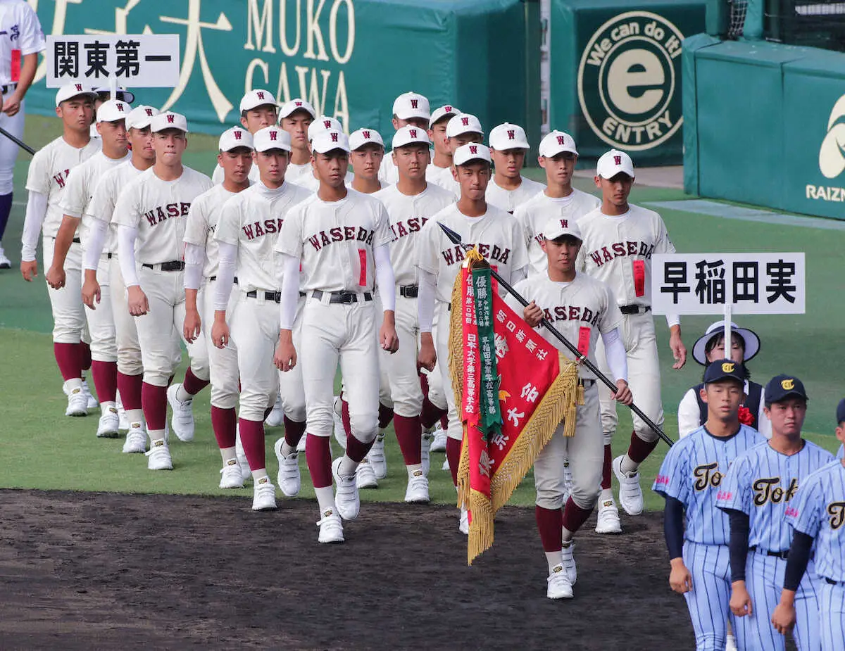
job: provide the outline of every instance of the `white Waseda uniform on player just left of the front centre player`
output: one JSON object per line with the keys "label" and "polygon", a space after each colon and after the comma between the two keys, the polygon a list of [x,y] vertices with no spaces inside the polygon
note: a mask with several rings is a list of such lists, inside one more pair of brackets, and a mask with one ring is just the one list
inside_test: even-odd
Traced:
{"label": "white Waseda uniform on player just left of the front centre player", "polygon": [[[237,368],[241,376],[239,415],[245,420],[264,420],[264,410],[275,402],[280,383],[285,414],[297,422],[305,420],[301,366],[297,364],[287,373],[280,373],[273,366],[279,341],[281,289],[274,247],[281,236],[281,225],[308,196],[307,190],[287,181],[277,189],[259,181],[226,202],[215,231],[215,241],[221,250],[226,245],[235,249],[223,251],[221,261],[232,254],[236,256],[237,294],[232,292],[231,285],[226,292],[226,280],[221,278],[221,286],[215,288],[214,303],[216,309],[222,309],[226,296],[236,294],[229,329],[237,346]],[[301,334],[302,302],[297,308],[295,344]],[[232,303],[228,305],[231,307]],[[307,359],[311,351],[303,352]]]}

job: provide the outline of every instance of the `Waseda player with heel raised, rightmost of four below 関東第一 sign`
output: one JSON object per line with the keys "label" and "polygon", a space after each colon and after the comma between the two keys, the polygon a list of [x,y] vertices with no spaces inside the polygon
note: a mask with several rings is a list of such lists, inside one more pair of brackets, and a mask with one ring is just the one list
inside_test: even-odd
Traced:
{"label": "Waseda player with heel raised, rightmost of four below \u95a2\u6771\u7b2c\u4e00 sign", "polygon": [[[117,199],[117,254],[126,284],[129,313],[135,317],[144,384],[141,400],[150,451],[150,470],[173,468],[165,439],[167,404],[172,427],[183,441],[194,438],[194,395],[209,384],[204,339],[185,341],[191,364],[185,380],[167,388],[173,374],[173,329],[185,321],[185,219],[191,203],[212,186],[211,179],[182,164],[188,146],[188,121],[179,113],[152,118],[155,165],[142,172]],[[136,249],[137,247],[137,249]],[[137,266],[136,266],[137,263]]]}

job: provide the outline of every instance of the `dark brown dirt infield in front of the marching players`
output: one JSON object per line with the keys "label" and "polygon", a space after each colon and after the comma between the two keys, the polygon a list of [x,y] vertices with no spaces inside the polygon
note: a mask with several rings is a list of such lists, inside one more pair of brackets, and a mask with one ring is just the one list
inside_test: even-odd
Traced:
{"label": "dark brown dirt infield in front of the marching players", "polygon": [[[364,504],[319,545],[313,502],[0,491],[0,648],[693,648],[660,514],[580,534],[546,599],[529,509],[466,567],[455,509]],[[586,532],[589,533],[586,533]]]}

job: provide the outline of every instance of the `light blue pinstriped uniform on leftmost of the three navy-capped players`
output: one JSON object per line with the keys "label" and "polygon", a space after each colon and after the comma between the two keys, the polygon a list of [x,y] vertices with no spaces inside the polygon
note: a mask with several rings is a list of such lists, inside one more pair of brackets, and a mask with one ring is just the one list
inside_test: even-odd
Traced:
{"label": "light blue pinstriped uniform on leftmost of the three navy-capped players", "polygon": [[716,507],[722,478],[740,453],[766,442],[759,431],[740,426],[733,437],[714,437],[705,426],[672,448],[651,490],[674,497],[684,505],[684,565],[692,575],[692,589],[684,594],[695,629],[696,651],[722,651],[733,624],[731,596],[730,521]]}

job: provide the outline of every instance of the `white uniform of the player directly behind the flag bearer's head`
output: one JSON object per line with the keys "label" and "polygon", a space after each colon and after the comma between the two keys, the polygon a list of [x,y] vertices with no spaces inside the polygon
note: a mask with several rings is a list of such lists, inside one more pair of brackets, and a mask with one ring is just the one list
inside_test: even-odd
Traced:
{"label": "white uniform of the player directly behind the flag bearer's head", "polygon": [[525,231],[528,258],[531,260],[528,274],[546,274],[548,270],[548,259],[541,247],[544,240],[542,229],[548,224],[548,220],[557,216],[562,220],[577,221],[601,205],[601,199],[572,188],[568,197],[552,198],[540,192],[518,206],[514,217]]}

